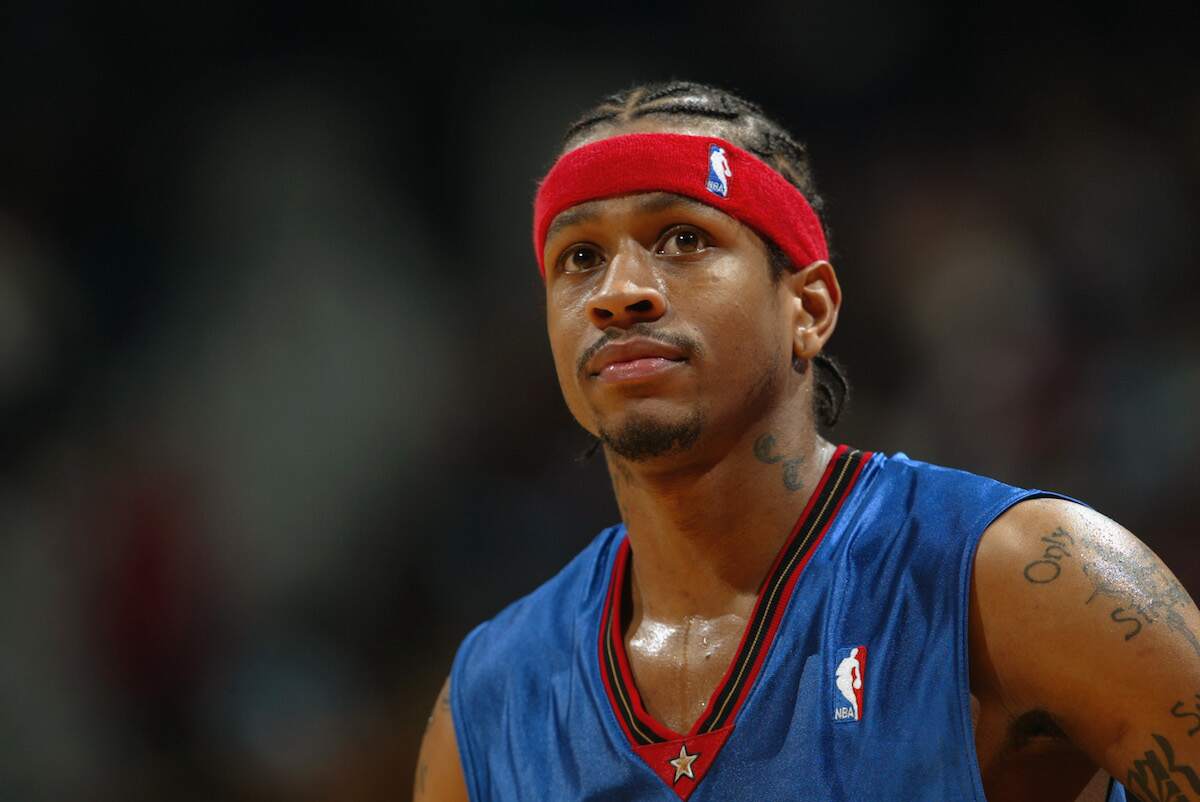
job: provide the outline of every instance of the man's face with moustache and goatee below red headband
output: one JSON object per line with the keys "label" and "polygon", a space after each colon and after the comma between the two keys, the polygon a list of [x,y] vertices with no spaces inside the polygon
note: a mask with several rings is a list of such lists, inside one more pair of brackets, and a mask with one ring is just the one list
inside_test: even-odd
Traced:
{"label": "man's face with moustache and goatee below red headband", "polygon": [[544,256],[563,395],[622,456],[719,445],[794,378],[794,294],[762,239],[716,209],[661,192],[593,200],[556,217]]}

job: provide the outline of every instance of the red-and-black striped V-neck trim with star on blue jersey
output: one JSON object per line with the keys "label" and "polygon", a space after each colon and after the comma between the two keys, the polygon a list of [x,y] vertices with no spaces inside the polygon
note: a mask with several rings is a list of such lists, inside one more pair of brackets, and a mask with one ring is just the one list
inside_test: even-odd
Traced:
{"label": "red-and-black striped V-neck trim with star on blue jersey", "polygon": [[[829,457],[804,511],[767,571],[733,660],[713,690],[704,712],[686,734],[676,732],[647,712],[629,668],[620,622],[629,581],[626,568],[630,543],[628,534],[622,533],[601,612],[600,676],[612,711],[630,746],[680,798],[685,800],[690,795],[728,737],[733,722],[758,677],[800,574],[870,456],[870,453],[839,445]],[[676,746],[679,747],[678,756]],[[665,761],[665,768],[656,765],[664,762],[664,755],[670,756]],[[683,772],[680,766],[686,766],[688,771]]]}

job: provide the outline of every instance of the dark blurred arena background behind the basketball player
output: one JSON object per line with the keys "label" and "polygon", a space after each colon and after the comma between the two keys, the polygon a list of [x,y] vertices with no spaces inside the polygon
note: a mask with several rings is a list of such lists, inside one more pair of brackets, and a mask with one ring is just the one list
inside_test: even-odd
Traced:
{"label": "dark blurred arena background behind the basketball player", "polygon": [[617,519],[529,226],[635,82],[809,143],[836,439],[1200,591],[1194,10],[106,5],[0,16],[0,798],[408,797],[461,638]]}

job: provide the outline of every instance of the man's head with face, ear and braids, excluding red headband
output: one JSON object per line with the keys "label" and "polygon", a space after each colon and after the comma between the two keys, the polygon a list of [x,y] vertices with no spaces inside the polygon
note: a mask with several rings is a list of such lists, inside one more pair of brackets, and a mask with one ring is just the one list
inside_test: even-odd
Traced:
{"label": "man's head with face, ear and braids, excluding red headband", "polygon": [[[571,126],[563,152],[629,133],[725,139],[823,207],[804,149],[730,92],[671,83],[613,95]],[[702,438],[719,448],[780,414],[836,421],[847,385],[823,354],[841,303],[828,261],[797,264],[742,220],[661,191],[563,210],[542,256],[564,397],[616,454],[667,456]]]}

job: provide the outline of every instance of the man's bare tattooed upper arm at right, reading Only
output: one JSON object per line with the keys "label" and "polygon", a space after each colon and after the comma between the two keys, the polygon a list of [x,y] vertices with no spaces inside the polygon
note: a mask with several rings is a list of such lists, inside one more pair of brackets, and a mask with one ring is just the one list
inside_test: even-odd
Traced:
{"label": "man's bare tattooed upper arm at right, reading Only", "polygon": [[989,527],[973,582],[1009,710],[1049,712],[1144,802],[1200,800],[1200,612],[1148,547],[1038,499]]}

